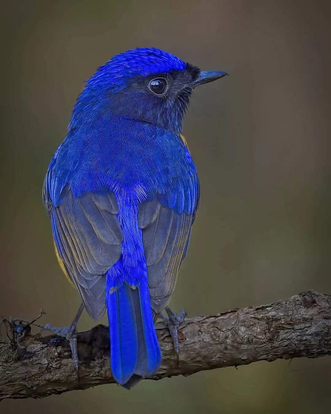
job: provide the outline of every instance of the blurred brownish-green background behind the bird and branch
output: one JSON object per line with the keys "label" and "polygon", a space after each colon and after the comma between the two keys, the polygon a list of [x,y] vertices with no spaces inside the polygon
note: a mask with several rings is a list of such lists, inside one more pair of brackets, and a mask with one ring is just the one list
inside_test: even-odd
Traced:
{"label": "blurred brownish-green background behind the bird and branch", "polygon": [[[331,294],[331,27],[323,1],[2,1],[0,315],[71,322],[41,188],[84,79],[156,46],[230,73],[194,91],[184,135],[201,206],[171,306],[189,315]],[[103,319],[103,323],[106,320]],[[93,325],[86,313],[79,330]],[[330,413],[331,358],[115,385],[0,412]]]}

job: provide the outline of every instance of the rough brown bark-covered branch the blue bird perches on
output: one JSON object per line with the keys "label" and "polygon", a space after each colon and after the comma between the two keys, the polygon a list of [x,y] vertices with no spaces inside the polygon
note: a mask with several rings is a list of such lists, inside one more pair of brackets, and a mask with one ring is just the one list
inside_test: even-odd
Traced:
{"label": "rough brown bark-covered branch the blue bird perches on", "polygon": [[[162,364],[151,377],[331,353],[331,296],[308,291],[271,305],[185,319],[180,325],[180,363],[162,323],[156,325]],[[55,335],[23,337],[17,349],[0,342],[0,400],[41,398],[113,383],[108,327],[78,334],[79,379],[67,340]]]}

